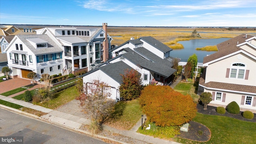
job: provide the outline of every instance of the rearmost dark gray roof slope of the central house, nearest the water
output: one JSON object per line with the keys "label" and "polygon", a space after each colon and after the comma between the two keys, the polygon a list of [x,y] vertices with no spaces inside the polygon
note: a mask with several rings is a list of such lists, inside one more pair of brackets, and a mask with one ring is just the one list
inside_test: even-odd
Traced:
{"label": "rearmost dark gray roof slope of the central house, nearest the water", "polygon": [[168,46],[166,46],[165,44],[163,44],[159,40],[156,40],[155,38],[153,38],[152,36],[141,37],[139,39],[142,39],[142,40],[148,42],[149,44],[151,44],[152,46],[154,46],[158,50],[161,50],[162,52],[166,53],[166,52],[169,52],[169,51],[172,50],[171,48],[169,48]]}

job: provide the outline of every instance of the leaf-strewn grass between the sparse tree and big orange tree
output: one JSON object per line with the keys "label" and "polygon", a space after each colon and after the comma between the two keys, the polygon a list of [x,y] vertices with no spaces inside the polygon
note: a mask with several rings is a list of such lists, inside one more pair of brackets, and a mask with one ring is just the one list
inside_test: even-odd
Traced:
{"label": "leaf-strewn grass between the sparse tree and big orange tree", "polygon": [[130,130],[141,120],[142,110],[139,100],[120,101],[115,106],[116,112],[104,124],[119,130]]}

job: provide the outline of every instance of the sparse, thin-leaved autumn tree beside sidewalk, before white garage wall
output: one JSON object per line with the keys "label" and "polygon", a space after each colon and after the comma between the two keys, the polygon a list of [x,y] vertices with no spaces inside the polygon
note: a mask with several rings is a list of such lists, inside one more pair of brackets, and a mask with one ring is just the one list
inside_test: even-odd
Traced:
{"label": "sparse, thin-leaved autumn tree beside sidewalk, before white garage wall", "polygon": [[76,99],[80,100],[80,107],[91,115],[90,131],[92,134],[99,133],[102,123],[114,111],[115,100],[110,98],[111,87],[100,80],[92,80],[84,84],[84,93]]}

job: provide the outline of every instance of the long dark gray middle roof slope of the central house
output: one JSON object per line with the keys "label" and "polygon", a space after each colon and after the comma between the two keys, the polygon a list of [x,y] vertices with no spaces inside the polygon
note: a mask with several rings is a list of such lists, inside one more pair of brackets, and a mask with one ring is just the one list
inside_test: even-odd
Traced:
{"label": "long dark gray middle roof slope of the central house", "polygon": [[124,48],[126,51],[128,51],[125,54],[121,54],[134,64],[141,66],[147,70],[153,71],[157,74],[160,74],[166,78],[171,76],[176,70],[174,68],[171,68],[169,66],[166,66],[164,63],[164,60],[161,62],[152,62],[150,60],[144,59],[140,54],[137,52],[134,52],[130,48]]}

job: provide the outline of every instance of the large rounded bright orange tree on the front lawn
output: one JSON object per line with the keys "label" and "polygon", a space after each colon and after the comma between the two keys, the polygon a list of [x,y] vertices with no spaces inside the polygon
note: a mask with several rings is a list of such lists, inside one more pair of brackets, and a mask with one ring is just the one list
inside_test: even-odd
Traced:
{"label": "large rounded bright orange tree on the front lawn", "polygon": [[189,95],[182,95],[170,86],[146,86],[140,105],[150,122],[157,126],[180,126],[196,116],[196,104]]}

